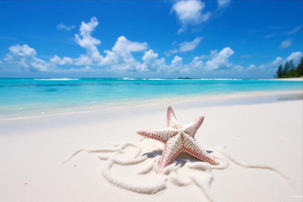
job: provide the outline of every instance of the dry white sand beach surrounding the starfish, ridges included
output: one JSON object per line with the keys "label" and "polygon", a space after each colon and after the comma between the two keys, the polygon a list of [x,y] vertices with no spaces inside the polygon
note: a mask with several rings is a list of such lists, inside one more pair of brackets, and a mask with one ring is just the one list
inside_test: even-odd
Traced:
{"label": "dry white sand beach surrounding the starfish, ridges included", "polygon": [[[181,154],[158,173],[163,144],[136,129],[165,127],[166,105],[1,121],[0,201],[302,201],[302,100],[173,107],[205,116],[196,140],[220,166]],[[81,148],[98,150],[62,164]]]}

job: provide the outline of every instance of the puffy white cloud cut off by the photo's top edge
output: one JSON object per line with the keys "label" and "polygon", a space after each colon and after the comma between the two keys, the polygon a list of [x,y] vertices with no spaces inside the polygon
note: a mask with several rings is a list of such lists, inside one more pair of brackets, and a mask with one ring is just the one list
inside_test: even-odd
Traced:
{"label": "puffy white cloud cut off by the photo's top edge", "polygon": [[179,33],[186,30],[187,25],[197,25],[205,22],[211,16],[210,12],[202,13],[205,9],[205,3],[199,0],[181,0],[176,1],[171,12],[175,12],[179,21],[182,23],[182,28]]}

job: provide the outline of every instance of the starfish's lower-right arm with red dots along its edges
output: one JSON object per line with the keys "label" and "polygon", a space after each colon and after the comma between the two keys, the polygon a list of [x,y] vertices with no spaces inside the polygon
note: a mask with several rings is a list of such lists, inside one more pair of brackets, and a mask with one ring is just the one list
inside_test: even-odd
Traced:
{"label": "starfish's lower-right arm with red dots along its edges", "polygon": [[197,143],[194,138],[189,137],[184,142],[183,151],[195,156],[196,158],[208,162],[210,164],[219,165],[219,162],[212,155],[209,155],[202,147]]}

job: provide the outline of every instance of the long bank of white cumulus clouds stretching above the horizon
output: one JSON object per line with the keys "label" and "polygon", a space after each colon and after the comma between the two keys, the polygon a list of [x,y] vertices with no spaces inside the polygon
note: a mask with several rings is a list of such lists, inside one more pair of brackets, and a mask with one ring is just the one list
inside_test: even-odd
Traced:
{"label": "long bank of white cumulus clouds stretching above the horizon", "polygon": [[[9,47],[9,53],[5,55],[3,63],[6,68],[19,67],[28,71],[52,71],[52,72],[163,72],[163,73],[207,73],[220,71],[225,73],[238,73],[243,71],[267,71],[271,66],[293,60],[298,62],[302,57],[302,52],[293,52],[287,59],[277,57],[273,62],[266,65],[251,64],[247,68],[229,62],[229,58],[234,54],[234,50],[225,47],[220,51],[211,50],[209,55],[200,55],[193,58],[189,63],[185,63],[183,58],[175,55],[172,61],[167,61],[152,49],[147,49],[146,42],[134,42],[125,36],[118,37],[114,46],[110,50],[104,50],[102,54],[97,46],[101,41],[92,36],[93,31],[98,26],[97,18],[92,17],[89,22],[82,22],[79,33],[75,35],[75,41],[86,50],[86,54],[78,58],[67,56],[60,57],[54,55],[49,61],[37,58],[34,48],[24,44]],[[179,44],[177,52],[186,52],[197,47],[201,37],[197,37],[191,42]],[[138,61],[132,55],[133,52],[143,52],[142,61]],[[71,68],[61,68],[69,65]],[[3,66],[1,64],[1,66]],[[272,68],[273,69],[273,68]]]}

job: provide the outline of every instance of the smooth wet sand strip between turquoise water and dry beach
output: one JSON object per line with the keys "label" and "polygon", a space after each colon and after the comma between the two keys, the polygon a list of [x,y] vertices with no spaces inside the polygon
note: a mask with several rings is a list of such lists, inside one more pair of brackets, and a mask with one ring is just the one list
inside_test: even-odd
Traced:
{"label": "smooth wet sand strip between turquoise water and dry beach", "polygon": [[[71,114],[86,114],[102,112],[110,109],[133,109],[138,107],[159,107],[168,104],[182,106],[228,106],[228,105],[242,105],[242,104],[261,104],[269,102],[279,102],[286,100],[302,100],[303,91],[255,91],[245,93],[227,93],[218,95],[205,95],[205,96],[188,96],[186,95],[175,96],[173,99],[148,99],[142,101],[124,101],[124,102],[112,102],[99,105],[90,106],[75,106],[73,108],[54,108],[54,109],[39,109],[30,112],[21,112],[22,114],[13,115],[7,114],[0,117],[0,122],[10,120],[22,120],[22,119],[35,119],[41,117],[52,117],[58,115],[71,115]],[[251,99],[254,98],[254,99]],[[42,111],[42,112],[41,112]]]}

